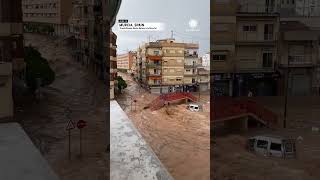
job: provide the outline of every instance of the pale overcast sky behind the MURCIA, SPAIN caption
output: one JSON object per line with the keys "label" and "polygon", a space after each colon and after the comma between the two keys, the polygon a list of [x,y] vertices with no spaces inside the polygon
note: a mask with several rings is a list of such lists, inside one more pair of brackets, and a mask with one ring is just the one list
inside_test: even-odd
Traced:
{"label": "pale overcast sky behind the MURCIA, SPAIN caption", "polygon": [[[119,31],[118,19],[129,22],[161,22],[164,31]],[[200,31],[190,32],[189,20],[198,21]],[[122,0],[117,22],[112,28],[118,36],[118,54],[136,50],[143,42],[171,37],[180,42],[199,43],[199,54],[210,49],[210,0]]]}

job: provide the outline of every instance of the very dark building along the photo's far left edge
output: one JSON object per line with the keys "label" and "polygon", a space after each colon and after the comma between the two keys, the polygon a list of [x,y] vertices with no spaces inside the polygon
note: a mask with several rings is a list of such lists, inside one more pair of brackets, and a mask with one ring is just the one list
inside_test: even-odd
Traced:
{"label": "very dark building along the photo's far left edge", "polygon": [[24,78],[21,0],[0,2],[0,121],[13,116],[13,82]]}

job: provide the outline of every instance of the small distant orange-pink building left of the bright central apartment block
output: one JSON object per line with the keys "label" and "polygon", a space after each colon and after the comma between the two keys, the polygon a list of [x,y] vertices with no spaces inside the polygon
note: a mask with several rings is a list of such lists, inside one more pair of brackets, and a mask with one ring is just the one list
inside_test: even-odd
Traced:
{"label": "small distant orange-pink building left of the bright central apartment block", "polygon": [[125,54],[117,55],[117,69],[132,73],[133,59],[136,56],[136,52],[129,51]]}

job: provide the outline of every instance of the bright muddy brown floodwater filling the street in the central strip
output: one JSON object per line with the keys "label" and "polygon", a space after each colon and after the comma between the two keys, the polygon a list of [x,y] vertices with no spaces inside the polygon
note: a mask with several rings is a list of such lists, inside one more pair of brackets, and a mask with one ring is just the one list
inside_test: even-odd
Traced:
{"label": "bright muddy brown floodwater filling the street in the central strip", "polygon": [[[124,73],[127,89],[117,96],[153,151],[176,180],[210,179],[209,96],[202,95],[203,112],[191,112],[185,104],[157,111],[144,109],[154,98]],[[137,100],[134,104],[131,102]]]}

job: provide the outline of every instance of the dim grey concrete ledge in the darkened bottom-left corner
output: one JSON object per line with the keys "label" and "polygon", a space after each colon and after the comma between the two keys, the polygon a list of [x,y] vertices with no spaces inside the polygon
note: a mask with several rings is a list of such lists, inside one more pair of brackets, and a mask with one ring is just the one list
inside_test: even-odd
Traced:
{"label": "dim grey concrete ledge in the darkened bottom-left corner", "polygon": [[1,180],[59,180],[19,124],[0,124],[0,147]]}

